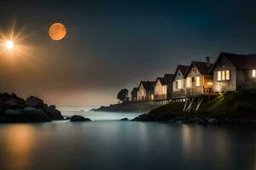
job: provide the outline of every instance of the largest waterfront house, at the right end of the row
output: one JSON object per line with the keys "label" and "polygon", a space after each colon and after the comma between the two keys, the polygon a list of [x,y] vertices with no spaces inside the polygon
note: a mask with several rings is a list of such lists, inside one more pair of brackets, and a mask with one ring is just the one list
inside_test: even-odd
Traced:
{"label": "largest waterfront house, at the right end of the row", "polygon": [[220,53],[212,66],[213,90],[236,91],[256,85],[256,54]]}

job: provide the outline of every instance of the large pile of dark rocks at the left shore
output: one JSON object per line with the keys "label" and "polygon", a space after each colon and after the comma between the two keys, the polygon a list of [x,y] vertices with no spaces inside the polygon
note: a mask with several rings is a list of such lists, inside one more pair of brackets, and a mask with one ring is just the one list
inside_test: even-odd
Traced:
{"label": "large pile of dark rocks at the left shore", "polygon": [[44,104],[43,99],[30,96],[22,99],[16,94],[0,93],[0,122],[50,122],[63,120],[55,105]]}

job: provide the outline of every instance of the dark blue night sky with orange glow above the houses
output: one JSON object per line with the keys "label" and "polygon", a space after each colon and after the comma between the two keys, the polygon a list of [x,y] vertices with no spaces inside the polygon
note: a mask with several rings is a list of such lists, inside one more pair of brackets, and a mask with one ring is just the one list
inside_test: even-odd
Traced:
{"label": "dark blue night sky with orange glow above the houses", "polygon": [[[15,23],[25,49],[0,54],[0,89],[56,105],[107,105],[120,88],[177,64],[256,53],[255,8],[247,0],[1,1],[1,31],[8,36]],[[59,42],[48,36],[54,22],[67,26]]]}

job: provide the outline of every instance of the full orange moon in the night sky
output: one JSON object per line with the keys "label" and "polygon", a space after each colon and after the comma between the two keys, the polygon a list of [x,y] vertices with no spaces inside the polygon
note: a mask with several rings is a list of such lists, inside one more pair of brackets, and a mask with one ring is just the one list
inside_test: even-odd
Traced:
{"label": "full orange moon in the night sky", "polygon": [[49,27],[49,37],[55,41],[61,40],[66,34],[66,27],[61,23],[55,23]]}

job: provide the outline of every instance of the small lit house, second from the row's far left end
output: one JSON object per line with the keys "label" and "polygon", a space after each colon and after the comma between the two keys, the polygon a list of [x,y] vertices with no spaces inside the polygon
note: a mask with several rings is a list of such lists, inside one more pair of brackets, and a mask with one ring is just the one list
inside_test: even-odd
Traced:
{"label": "small lit house, second from the row's far left end", "polygon": [[140,82],[137,93],[138,100],[154,99],[154,82]]}

